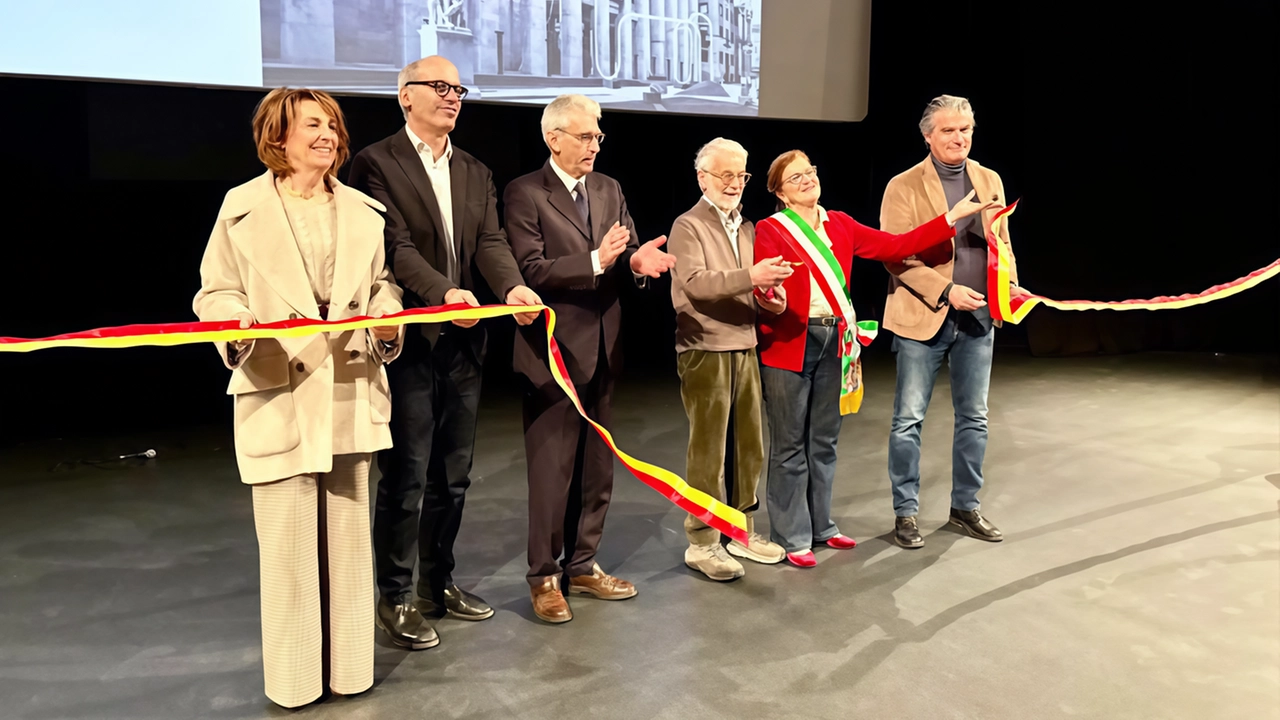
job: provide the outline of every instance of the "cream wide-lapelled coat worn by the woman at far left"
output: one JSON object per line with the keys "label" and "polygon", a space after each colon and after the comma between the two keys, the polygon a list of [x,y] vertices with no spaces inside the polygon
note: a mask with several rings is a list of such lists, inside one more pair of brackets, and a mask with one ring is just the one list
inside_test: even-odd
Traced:
{"label": "cream wide-lapelled coat worn by the woman at far left", "polygon": [[[329,319],[401,310],[383,250],[376,200],[333,181],[337,256]],[[232,188],[200,264],[193,307],[202,322],[250,313],[256,323],[320,319],[271,173]],[[401,337],[403,337],[403,328]],[[236,460],[246,483],[328,473],[334,455],[390,447],[392,405],[384,352],[369,332],[261,340],[229,357],[236,398]]]}

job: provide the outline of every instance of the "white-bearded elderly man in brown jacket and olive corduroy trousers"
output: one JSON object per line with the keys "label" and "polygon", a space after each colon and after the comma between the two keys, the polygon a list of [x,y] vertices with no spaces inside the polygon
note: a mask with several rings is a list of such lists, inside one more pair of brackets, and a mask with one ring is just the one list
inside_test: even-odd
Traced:
{"label": "white-bearded elderly man in brown jacket and olive corduroy trousers", "polygon": [[[782,547],[755,532],[753,521],[764,465],[755,311],[756,304],[772,313],[786,307],[781,286],[792,270],[781,258],[751,265],[755,231],[741,213],[741,195],[751,178],[746,150],[717,137],[698,151],[694,167],[703,196],[676,218],[668,238],[676,256],[671,278],[676,365],[689,415],[685,474],[690,486],[746,514],[749,541],[732,541],[726,552],[719,533],[690,515],[685,564],[723,582],[745,574],[733,556],[769,565],[785,556]],[[774,288],[774,297],[765,300],[754,288]]]}

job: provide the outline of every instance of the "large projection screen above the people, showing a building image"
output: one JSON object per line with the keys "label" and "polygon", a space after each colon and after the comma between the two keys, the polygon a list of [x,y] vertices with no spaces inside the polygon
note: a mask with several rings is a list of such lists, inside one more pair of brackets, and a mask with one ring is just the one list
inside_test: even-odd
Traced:
{"label": "large projection screen above the people, showing a building image", "polygon": [[854,120],[869,27],[869,0],[32,0],[0,73],[392,95],[439,54],[468,101]]}

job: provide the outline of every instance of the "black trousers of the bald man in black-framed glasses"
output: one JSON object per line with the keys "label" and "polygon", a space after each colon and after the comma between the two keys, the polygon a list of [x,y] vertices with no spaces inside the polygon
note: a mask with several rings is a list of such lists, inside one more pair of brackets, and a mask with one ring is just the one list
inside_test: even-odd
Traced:
{"label": "black trousers of the bald man in black-framed glasses", "polygon": [[419,562],[419,596],[444,602],[453,583],[453,542],[471,486],[483,359],[462,333],[445,331],[435,346],[415,333],[387,366],[392,389],[390,450],[378,454],[383,473],[374,514],[378,591],[396,600],[410,592]]}

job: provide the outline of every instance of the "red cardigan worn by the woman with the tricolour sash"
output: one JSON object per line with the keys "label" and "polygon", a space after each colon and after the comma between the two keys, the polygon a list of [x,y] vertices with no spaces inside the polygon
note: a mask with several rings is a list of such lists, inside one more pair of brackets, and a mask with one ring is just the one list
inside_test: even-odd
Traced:
{"label": "red cardigan worn by the woman with the tricolour sash", "polygon": [[[786,261],[803,261],[804,258],[785,240],[788,234],[787,229],[772,218],[756,223],[755,261],[778,255]],[[869,228],[844,213],[827,213],[827,237],[831,238],[832,254],[845,272],[846,284],[850,282],[849,273],[855,255],[881,263],[897,263],[946,242],[954,234],[955,229],[947,224],[945,215],[938,215],[911,232],[892,234]],[[804,368],[804,343],[809,337],[809,268],[796,266],[791,277],[782,282],[782,287],[787,293],[787,309],[781,315],[764,310],[756,314],[760,361],[769,368],[799,373]],[[840,314],[838,309],[836,314]]]}

